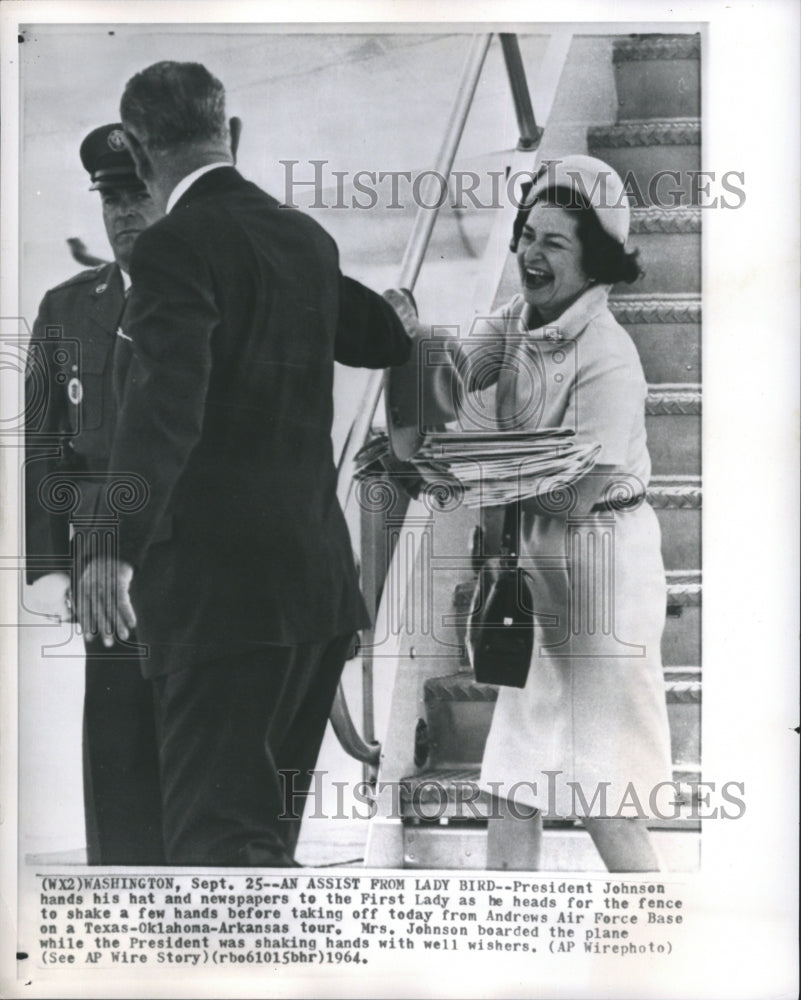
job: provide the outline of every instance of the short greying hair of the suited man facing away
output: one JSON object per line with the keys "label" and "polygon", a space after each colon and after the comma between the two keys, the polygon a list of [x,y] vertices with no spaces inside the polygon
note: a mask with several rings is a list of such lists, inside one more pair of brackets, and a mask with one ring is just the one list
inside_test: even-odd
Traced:
{"label": "short greying hair of the suited man facing away", "polygon": [[132,76],[120,117],[154,150],[228,141],[225,88],[200,63],[159,62]]}

